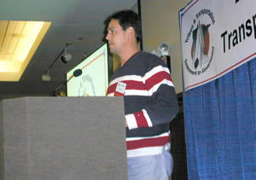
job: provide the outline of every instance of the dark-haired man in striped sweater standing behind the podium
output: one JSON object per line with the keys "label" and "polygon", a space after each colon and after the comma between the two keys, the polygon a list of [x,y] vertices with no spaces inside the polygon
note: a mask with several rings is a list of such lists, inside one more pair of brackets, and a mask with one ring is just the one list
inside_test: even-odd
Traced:
{"label": "dark-haired man in striped sweater standing behind the podium", "polygon": [[128,177],[169,179],[169,123],[178,108],[170,72],[156,55],[138,49],[142,29],[136,13],[122,10],[104,23],[110,52],[121,62],[110,78],[107,96],[124,96]]}

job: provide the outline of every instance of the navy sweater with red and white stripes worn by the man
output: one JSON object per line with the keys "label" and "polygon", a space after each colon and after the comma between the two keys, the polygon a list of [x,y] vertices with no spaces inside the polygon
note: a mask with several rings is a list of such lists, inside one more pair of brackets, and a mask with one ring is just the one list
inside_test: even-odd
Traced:
{"label": "navy sweater with red and white stripes worn by the man", "polygon": [[132,55],[113,73],[107,96],[124,96],[127,157],[161,154],[170,147],[177,96],[164,61],[143,51]]}

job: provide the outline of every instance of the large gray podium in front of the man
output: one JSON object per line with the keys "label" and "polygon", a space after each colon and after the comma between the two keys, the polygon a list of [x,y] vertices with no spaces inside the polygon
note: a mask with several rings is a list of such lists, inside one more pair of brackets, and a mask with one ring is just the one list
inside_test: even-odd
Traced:
{"label": "large gray podium in front of the man", "polygon": [[0,179],[127,179],[121,97],[0,102]]}

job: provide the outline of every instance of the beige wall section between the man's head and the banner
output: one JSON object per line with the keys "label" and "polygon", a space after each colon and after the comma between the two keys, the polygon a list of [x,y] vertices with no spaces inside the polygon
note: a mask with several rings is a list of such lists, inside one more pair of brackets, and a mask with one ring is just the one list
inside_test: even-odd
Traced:
{"label": "beige wall section between the man's head and the banner", "polygon": [[182,55],[178,11],[190,0],[142,0],[143,49],[151,52],[160,42],[171,48],[172,80],[176,92],[183,91]]}

